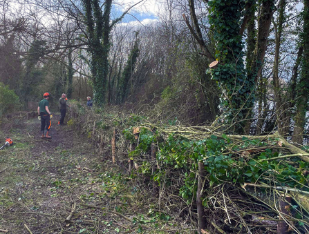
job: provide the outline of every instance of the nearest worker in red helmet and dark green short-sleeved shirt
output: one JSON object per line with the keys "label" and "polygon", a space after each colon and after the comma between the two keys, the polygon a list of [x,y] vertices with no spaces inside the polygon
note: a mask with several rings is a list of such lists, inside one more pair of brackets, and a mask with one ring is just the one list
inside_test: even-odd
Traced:
{"label": "nearest worker in red helmet and dark green short-sleeved shirt", "polygon": [[53,117],[53,115],[48,109],[48,99],[50,97],[49,92],[45,92],[43,97],[44,99],[39,102],[39,106],[37,107],[37,114],[39,115],[39,119],[41,119],[41,137],[50,139],[52,138],[49,135],[51,126],[50,118]]}

